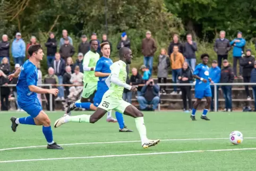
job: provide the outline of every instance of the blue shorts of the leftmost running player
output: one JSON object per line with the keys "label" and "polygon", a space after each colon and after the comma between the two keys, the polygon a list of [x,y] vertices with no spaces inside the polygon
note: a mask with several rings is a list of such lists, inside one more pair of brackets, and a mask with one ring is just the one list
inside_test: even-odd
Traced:
{"label": "blue shorts of the leftmost running player", "polygon": [[27,112],[33,118],[37,117],[37,115],[42,111],[42,106],[38,100],[38,98],[31,100],[31,102],[23,103],[19,102],[18,104],[20,108],[22,108],[25,112]]}

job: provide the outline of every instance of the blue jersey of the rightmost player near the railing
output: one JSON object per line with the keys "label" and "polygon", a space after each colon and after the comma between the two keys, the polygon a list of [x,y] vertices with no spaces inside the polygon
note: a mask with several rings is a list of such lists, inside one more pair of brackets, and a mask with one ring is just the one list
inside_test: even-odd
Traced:
{"label": "blue jersey of the rightmost player near the railing", "polygon": [[204,83],[203,81],[197,79],[195,83],[195,90],[204,90],[210,88],[209,67],[207,65],[197,65],[197,67],[195,67],[195,71],[193,74],[198,75],[200,78],[207,80],[207,82]]}

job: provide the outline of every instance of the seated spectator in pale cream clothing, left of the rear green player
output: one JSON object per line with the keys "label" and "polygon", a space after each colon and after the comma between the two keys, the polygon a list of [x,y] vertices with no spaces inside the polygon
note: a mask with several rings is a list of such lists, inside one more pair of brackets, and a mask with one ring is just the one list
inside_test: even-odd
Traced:
{"label": "seated spectator in pale cream clothing, left of the rear green player", "polygon": [[72,86],[69,91],[70,94],[69,96],[67,96],[67,98],[71,99],[71,100],[77,100],[78,99],[78,95],[80,94],[80,92],[82,92],[83,90],[83,73],[80,72],[79,66],[75,67],[75,72],[71,75],[71,79],[70,82],[75,85]]}

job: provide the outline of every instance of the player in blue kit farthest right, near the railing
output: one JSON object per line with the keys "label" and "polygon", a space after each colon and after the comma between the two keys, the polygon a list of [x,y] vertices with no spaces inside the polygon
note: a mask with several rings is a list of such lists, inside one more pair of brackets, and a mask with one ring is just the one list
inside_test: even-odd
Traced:
{"label": "player in blue kit farthest right, near the railing", "polygon": [[211,105],[211,78],[209,78],[209,67],[207,66],[209,55],[202,54],[201,59],[202,63],[195,67],[195,71],[193,73],[193,77],[197,79],[195,83],[195,98],[197,98],[197,101],[194,102],[192,114],[190,116],[192,121],[196,121],[195,112],[197,112],[197,108],[203,97],[206,98],[207,104],[203,109],[201,119],[210,121],[210,119],[206,116]]}

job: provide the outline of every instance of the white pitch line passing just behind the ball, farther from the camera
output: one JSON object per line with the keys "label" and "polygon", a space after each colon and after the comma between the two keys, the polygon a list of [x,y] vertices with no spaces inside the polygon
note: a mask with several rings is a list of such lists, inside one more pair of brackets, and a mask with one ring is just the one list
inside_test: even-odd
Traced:
{"label": "white pitch line passing just behind the ball, farther from the camera", "polygon": [[[227,139],[228,138],[201,138],[201,139],[168,139],[168,140],[161,140],[161,141],[200,141],[200,140],[227,140]],[[244,139],[256,139],[256,137],[246,137]],[[113,143],[130,143],[130,142],[141,142],[141,141],[82,142],[82,143],[71,143],[71,144],[59,144],[59,146],[76,146],[76,145],[86,145],[86,144],[113,144]],[[14,148],[0,149],[0,151],[28,149],[28,148],[37,148],[37,147],[46,147],[46,146],[14,147]]]}

